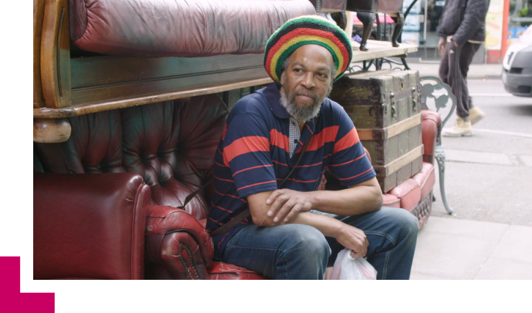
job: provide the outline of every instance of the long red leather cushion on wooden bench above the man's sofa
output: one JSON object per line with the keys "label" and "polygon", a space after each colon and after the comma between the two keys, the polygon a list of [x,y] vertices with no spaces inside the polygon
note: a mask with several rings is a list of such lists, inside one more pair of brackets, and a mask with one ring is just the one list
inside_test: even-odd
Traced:
{"label": "long red leather cushion on wooden bench above the man's sofa", "polygon": [[315,13],[308,0],[70,0],[70,36],[110,55],[260,54],[286,21]]}

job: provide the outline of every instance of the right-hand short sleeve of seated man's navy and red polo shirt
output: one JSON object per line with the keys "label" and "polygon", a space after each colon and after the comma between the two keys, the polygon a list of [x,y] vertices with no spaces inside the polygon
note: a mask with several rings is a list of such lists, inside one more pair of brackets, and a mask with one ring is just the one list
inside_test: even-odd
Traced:
{"label": "right-hand short sleeve of seated man's navy and red polo shirt", "polygon": [[339,115],[339,128],[329,170],[345,187],[366,182],[377,174],[365,154],[355,125],[343,110]]}

